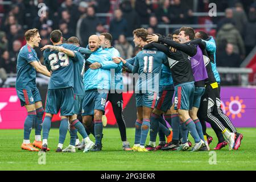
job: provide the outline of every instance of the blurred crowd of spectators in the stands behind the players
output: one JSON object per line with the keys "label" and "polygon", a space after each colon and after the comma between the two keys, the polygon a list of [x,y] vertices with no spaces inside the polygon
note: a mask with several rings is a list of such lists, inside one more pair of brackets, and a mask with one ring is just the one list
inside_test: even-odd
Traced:
{"label": "blurred crowd of spectators in the stands behind the players", "polygon": [[[6,4],[5,2],[11,2]],[[131,37],[135,28],[148,25],[150,33],[165,35],[166,30],[158,24],[217,24],[207,31],[216,38],[217,65],[240,67],[242,60],[255,46],[256,2],[254,0],[199,0],[197,12],[208,12],[209,3],[217,4],[218,12],[225,16],[193,16],[193,0],[0,0],[0,76],[16,73],[19,49],[26,44],[24,32],[38,28],[42,41],[40,47],[49,42],[49,34],[60,29],[63,37],[77,36],[80,46],[86,47],[92,34],[110,32],[113,46],[124,59],[133,57],[139,50],[134,48]],[[45,3],[46,7],[38,6]],[[42,11],[43,10],[43,11]],[[46,12],[45,16],[42,12]],[[99,14],[110,13],[111,16]],[[96,15],[97,14],[97,15]],[[170,28],[170,32],[175,29]],[[127,39],[128,38],[128,39]],[[130,38],[130,39],[129,39]],[[40,48],[39,47],[39,48]],[[42,52],[36,49],[43,63]]]}

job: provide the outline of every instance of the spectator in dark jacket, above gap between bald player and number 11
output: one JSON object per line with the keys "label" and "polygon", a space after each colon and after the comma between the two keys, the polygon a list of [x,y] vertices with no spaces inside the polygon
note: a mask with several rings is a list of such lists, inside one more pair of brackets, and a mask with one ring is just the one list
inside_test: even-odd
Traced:
{"label": "spectator in dark jacket, above gap between bald player and number 11", "polygon": [[127,22],[122,18],[120,9],[114,12],[114,19],[110,22],[109,32],[112,34],[113,40],[117,40],[121,34],[127,36]]}

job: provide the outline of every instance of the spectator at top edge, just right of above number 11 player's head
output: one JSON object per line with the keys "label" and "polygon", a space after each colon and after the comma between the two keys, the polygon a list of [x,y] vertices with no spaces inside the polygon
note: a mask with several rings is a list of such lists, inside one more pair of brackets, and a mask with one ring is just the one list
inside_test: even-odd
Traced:
{"label": "spectator at top edge, just right of above number 11 player's head", "polygon": [[156,17],[158,18],[158,22],[169,24],[170,19],[170,0],[165,0],[163,5],[156,11]]}

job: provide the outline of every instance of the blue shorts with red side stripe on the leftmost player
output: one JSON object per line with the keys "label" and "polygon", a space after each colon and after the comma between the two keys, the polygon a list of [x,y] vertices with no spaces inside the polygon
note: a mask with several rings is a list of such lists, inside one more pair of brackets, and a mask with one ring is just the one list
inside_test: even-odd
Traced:
{"label": "blue shorts with red side stripe on the leftmost player", "polygon": [[16,90],[16,93],[22,107],[24,105],[31,105],[35,104],[35,102],[42,101],[38,88],[35,88],[33,90],[18,89]]}

